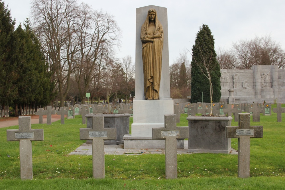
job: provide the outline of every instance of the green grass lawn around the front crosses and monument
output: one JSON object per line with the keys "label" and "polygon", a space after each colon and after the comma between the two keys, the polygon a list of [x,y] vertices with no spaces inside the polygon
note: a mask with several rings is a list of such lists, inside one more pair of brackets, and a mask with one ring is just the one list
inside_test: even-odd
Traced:
{"label": "green grass lawn around the front crosses and monument", "polygon": [[[272,106],[274,107],[274,105]],[[275,106],[276,107],[276,106]],[[177,126],[187,126],[181,114]],[[132,122],[133,118],[130,118]],[[234,119],[233,119],[234,120]],[[285,189],[285,113],[282,122],[260,115],[263,138],[251,139],[250,178],[237,178],[237,155],[178,155],[178,179],[165,179],[165,156],[105,155],[105,179],[92,179],[92,156],[68,155],[85,141],[80,140],[81,116],[46,124],[44,141],[33,141],[33,180],[20,179],[19,142],[7,142],[0,128],[0,189]],[[237,126],[232,122],[232,126]],[[231,139],[237,149],[237,139]],[[10,157],[8,157],[9,155]]]}

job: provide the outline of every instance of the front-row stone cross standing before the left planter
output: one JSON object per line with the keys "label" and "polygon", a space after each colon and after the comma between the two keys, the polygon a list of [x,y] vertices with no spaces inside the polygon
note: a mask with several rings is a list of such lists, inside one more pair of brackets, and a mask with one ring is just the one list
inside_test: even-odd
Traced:
{"label": "front-row stone cross standing before the left planter", "polygon": [[80,140],[93,141],[93,178],[105,178],[104,139],[116,139],[116,128],[104,128],[103,115],[92,116],[92,128],[80,128]]}

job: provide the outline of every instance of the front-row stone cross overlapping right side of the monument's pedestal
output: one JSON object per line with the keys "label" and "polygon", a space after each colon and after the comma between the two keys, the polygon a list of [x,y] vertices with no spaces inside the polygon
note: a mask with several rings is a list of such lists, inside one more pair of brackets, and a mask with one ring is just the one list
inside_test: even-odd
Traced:
{"label": "front-row stone cross overlapping right side of the monument's pedestal", "polygon": [[188,127],[176,127],[176,115],[164,115],[165,128],[152,128],[153,139],[165,140],[165,176],[177,178],[177,139],[188,138]]}

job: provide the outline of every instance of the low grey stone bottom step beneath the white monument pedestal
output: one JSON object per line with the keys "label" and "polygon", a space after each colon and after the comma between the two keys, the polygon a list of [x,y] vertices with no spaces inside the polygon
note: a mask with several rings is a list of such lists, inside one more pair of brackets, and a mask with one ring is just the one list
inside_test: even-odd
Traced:
{"label": "low grey stone bottom step beneath the white monument pedestal", "polygon": [[[152,139],[152,136],[124,135],[124,149],[164,149],[164,139]],[[177,148],[184,149],[184,139],[177,139]]]}

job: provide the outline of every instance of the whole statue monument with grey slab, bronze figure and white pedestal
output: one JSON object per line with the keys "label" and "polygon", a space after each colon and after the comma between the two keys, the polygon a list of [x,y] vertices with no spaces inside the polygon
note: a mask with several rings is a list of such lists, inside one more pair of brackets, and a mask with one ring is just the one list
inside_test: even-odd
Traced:
{"label": "whole statue monument with grey slab, bronze figure and white pedestal", "polygon": [[[156,22],[157,20],[159,22]],[[149,35],[144,36],[144,34]],[[155,47],[152,51],[153,46]],[[162,48],[162,52],[155,51],[157,48]],[[150,56],[149,52],[155,55]],[[147,57],[149,60],[144,60]],[[160,64],[160,59],[161,69],[160,66],[158,68],[151,66],[154,62]],[[149,75],[147,71],[144,71],[146,67],[151,67],[149,72],[156,69],[154,71],[156,73]],[[145,81],[148,76],[150,78]],[[124,136],[124,148],[164,148],[164,140],[152,139],[152,128],[164,127],[164,115],[173,114],[174,103],[170,97],[167,8],[149,5],[136,9],[135,85],[132,134]],[[147,88],[151,89],[148,91]],[[184,148],[184,144],[181,144],[180,148]]]}

